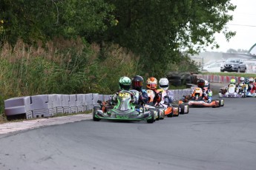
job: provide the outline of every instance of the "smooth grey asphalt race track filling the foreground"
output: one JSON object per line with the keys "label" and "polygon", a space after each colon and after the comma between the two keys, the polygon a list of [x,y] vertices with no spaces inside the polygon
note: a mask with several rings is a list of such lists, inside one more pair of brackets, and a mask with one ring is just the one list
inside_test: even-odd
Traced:
{"label": "smooth grey asphalt race track filling the foreground", "polygon": [[0,135],[0,169],[256,169],[256,98],[155,123],[83,120]]}

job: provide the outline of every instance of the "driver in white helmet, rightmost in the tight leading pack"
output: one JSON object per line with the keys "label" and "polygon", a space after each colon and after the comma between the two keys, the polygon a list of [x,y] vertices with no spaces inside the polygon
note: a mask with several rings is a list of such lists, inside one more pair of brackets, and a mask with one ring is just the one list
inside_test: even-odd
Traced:
{"label": "driver in white helmet, rightmost in the tight leading pack", "polygon": [[173,101],[174,101],[174,92],[172,92],[171,90],[169,90],[169,81],[167,78],[160,78],[159,81],[159,87],[160,89],[158,89],[159,91],[165,91],[165,94],[163,96],[163,102],[167,105],[170,105]]}

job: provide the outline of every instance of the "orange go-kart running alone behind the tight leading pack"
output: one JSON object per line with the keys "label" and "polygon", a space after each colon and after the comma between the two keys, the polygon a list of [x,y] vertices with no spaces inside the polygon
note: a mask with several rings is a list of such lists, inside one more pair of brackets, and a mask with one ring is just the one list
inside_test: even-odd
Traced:
{"label": "orange go-kart running alone behind the tight leading pack", "polygon": [[194,92],[191,95],[183,96],[183,101],[188,103],[188,106],[211,106],[211,107],[220,107],[224,106],[223,99],[215,99],[210,103],[206,101],[206,98],[203,97],[203,90],[199,87],[194,89]]}

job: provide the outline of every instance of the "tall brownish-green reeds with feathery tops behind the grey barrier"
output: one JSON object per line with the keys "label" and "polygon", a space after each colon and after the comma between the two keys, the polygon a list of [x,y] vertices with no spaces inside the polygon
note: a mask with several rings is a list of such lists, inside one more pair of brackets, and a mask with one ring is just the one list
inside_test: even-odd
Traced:
{"label": "tall brownish-green reeds with feathery tops behind the grey barrier", "polygon": [[0,113],[4,100],[27,95],[112,94],[120,76],[139,72],[139,57],[116,44],[100,48],[84,39],[56,38],[35,45],[17,41],[0,50]]}

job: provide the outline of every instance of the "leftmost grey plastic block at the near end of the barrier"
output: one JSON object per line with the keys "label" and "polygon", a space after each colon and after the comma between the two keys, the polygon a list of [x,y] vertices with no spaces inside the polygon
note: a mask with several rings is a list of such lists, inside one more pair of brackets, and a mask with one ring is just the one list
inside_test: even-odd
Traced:
{"label": "leftmost grey plastic block at the near end of the barrier", "polygon": [[25,114],[27,119],[33,118],[30,103],[30,96],[7,99],[4,101],[4,113],[7,116]]}

